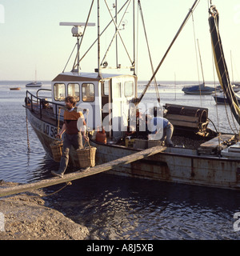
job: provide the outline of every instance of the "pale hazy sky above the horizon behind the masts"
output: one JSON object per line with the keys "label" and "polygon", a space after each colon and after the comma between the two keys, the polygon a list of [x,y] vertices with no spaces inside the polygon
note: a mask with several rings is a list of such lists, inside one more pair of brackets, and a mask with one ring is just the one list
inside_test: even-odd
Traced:
{"label": "pale hazy sky above the horizon behind the masts", "polygon": [[[95,1],[96,2],[96,1]],[[103,0],[100,0],[104,4]],[[107,0],[114,11],[115,0]],[[118,0],[118,6],[124,2]],[[210,45],[208,25],[208,0],[200,0],[193,18],[190,18],[182,33],[174,43],[157,74],[158,81],[199,81],[202,82],[202,71],[199,62],[198,39],[202,69],[205,81],[214,81],[213,59]],[[86,22],[91,1],[88,0],[0,0],[0,80],[52,80],[62,72],[70,53],[74,49],[76,38],[72,37],[70,26],[59,26],[59,22]],[[142,0],[142,12],[146,25],[146,34],[150,45],[153,66],[156,68],[166,49],[177,33],[194,0]],[[239,0],[212,0],[220,14],[219,29],[223,50],[228,65],[230,78],[240,81],[240,2]],[[101,30],[110,21],[106,6],[101,9]],[[90,22],[97,23],[96,6]],[[119,20],[122,16],[119,17]],[[138,15],[136,15],[136,19]],[[133,38],[130,23],[132,11],[123,18],[125,30],[121,30],[122,38],[128,45]],[[139,26],[141,20],[139,19]],[[122,27],[122,26],[121,26]],[[96,38],[97,26],[90,27],[82,42],[82,53],[90,41]],[[138,32],[138,79],[149,80],[151,77],[150,61],[146,42]],[[112,34],[104,34],[102,45],[106,48]],[[125,63],[126,52],[118,38],[120,51],[118,63]],[[85,47],[85,48],[84,48]],[[115,46],[110,50],[114,51]],[[133,47],[130,46],[130,54]],[[113,53],[112,53],[113,54]],[[196,55],[198,57],[196,57]],[[110,55],[107,62],[113,58]],[[232,56],[232,58],[230,58]],[[198,62],[197,62],[198,58]],[[90,58],[84,59],[82,71],[93,72],[97,68],[97,48],[90,52]],[[70,60],[72,64],[72,59]],[[71,65],[66,71],[71,70]],[[118,70],[116,72],[119,72]]]}

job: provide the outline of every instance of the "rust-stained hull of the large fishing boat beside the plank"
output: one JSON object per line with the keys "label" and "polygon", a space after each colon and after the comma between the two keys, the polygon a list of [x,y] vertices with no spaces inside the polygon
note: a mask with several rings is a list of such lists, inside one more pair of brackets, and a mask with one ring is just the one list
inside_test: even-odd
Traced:
{"label": "rust-stained hull of the large fishing boat beside the plank", "polygon": [[[50,143],[54,141],[57,126],[42,121],[26,109],[27,119],[38,135],[46,153],[52,157]],[[91,141],[97,148],[96,164],[110,162],[126,155],[138,152],[138,149],[126,146],[102,144]],[[72,161],[74,154],[72,154]],[[116,166],[109,174],[118,174],[131,178],[147,178],[164,182],[178,182],[198,186],[218,188],[240,188],[240,159],[216,158],[194,155],[194,150],[168,148],[146,159],[130,164]]]}

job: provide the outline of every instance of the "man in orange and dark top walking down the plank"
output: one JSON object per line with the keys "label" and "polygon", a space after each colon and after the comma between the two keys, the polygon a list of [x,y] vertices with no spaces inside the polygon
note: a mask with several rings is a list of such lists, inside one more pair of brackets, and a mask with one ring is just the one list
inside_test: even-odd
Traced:
{"label": "man in orange and dark top walking down the plank", "polygon": [[62,157],[58,171],[51,171],[54,176],[61,178],[63,177],[69,162],[70,147],[74,146],[75,150],[82,149],[82,137],[88,141],[88,138],[86,137],[86,122],[82,112],[77,112],[76,110],[76,101],[74,97],[66,97],[65,106],[66,110],[64,111],[64,123],[62,130],[60,130],[60,132],[57,134],[58,138],[62,138],[62,134],[65,132]]}

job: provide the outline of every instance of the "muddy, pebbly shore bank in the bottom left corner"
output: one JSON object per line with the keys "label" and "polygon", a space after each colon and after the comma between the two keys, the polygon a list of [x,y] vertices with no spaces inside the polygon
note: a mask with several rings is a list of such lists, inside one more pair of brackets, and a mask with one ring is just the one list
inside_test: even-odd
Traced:
{"label": "muddy, pebbly shore bank in the bottom left corner", "polygon": [[[18,183],[2,182],[1,188]],[[0,198],[0,240],[88,240],[86,226],[46,206],[42,190]]]}

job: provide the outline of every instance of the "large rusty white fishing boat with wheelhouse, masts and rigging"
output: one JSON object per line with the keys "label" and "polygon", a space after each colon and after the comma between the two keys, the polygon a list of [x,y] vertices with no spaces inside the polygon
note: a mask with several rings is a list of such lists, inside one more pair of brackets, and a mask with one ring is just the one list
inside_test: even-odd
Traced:
{"label": "large rusty white fishing boat with wheelhouse, masts and rigging", "polygon": [[[117,15],[122,10],[124,10],[124,14],[126,12],[131,13],[128,9],[130,2],[126,1],[120,9],[115,10],[115,17],[111,16],[110,22],[102,32],[98,13],[97,39],[93,41],[93,44],[89,44],[91,48],[96,43],[98,48],[98,67],[92,73],[84,73],[80,70],[82,58],[79,54],[82,53],[80,46],[82,46],[82,38],[84,38],[86,30],[91,30],[92,26],[95,25],[89,22],[90,13],[86,23],[62,22],[60,24],[73,26],[72,33],[77,38],[77,54],[74,65],[70,72],[63,70],[52,80],[52,98],[40,98],[38,92],[32,94],[26,91],[25,108],[28,122],[33,127],[39,141],[42,142],[46,153],[53,158],[50,144],[56,140],[55,136],[58,134],[59,127],[62,126],[64,99],[68,95],[73,96],[78,102],[78,110],[82,110],[86,118],[90,144],[97,148],[96,165],[99,165],[137,152],[143,152],[146,148],[154,145],[162,145],[160,140],[147,139],[145,130],[142,129],[145,127],[146,113],[157,116],[161,113],[174,125],[172,140],[175,146],[162,145],[162,150],[158,154],[116,166],[107,172],[134,178],[149,178],[164,182],[238,190],[240,188],[240,158],[232,158],[230,154],[222,154],[222,150],[238,143],[237,134],[220,134],[218,131],[210,130],[207,108],[182,106],[171,102],[163,107],[158,106],[158,104],[146,106],[142,103],[143,95],[154,80],[182,27],[197,6],[198,0],[194,1],[178,33],[166,50],[166,54],[139,97],[135,59],[130,58],[130,54],[128,54],[131,74],[110,74],[105,71],[109,66],[106,62],[106,54],[109,52],[111,44],[106,50],[106,54],[103,54],[102,62],[100,58],[102,56],[100,38],[108,26],[114,25],[114,38],[118,35],[118,39],[121,38],[122,40],[120,30],[118,30],[120,25],[117,24]],[[134,10],[135,1],[132,2]],[[140,6],[139,10],[142,10],[140,1],[138,1],[138,6]],[[107,4],[106,7],[110,10]],[[117,7],[115,6],[115,8]],[[98,12],[99,10],[98,6]],[[230,102],[234,98],[234,92],[231,88],[230,90],[226,89],[230,86],[230,82],[226,65],[223,65],[225,60],[218,30],[218,11],[214,6],[210,6],[209,22],[218,79]],[[82,54],[82,57],[85,56],[86,54]],[[120,66],[117,60],[116,69],[119,70]],[[158,100],[156,102],[158,103]],[[236,107],[238,107],[238,102],[234,98],[234,104],[230,105],[230,108],[240,123]],[[97,139],[97,134],[101,132],[102,127],[106,130],[106,142]],[[74,150],[71,150],[70,160],[72,165],[78,166]]]}

